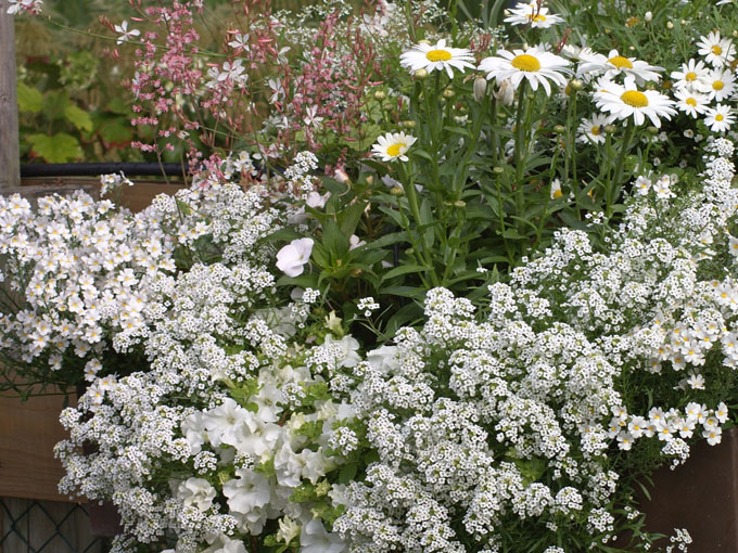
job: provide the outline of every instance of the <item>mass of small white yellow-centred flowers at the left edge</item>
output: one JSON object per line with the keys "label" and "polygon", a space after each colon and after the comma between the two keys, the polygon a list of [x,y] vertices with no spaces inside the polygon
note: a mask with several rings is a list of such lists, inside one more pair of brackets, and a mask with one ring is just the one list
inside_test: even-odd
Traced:
{"label": "mass of small white yellow-centred flowers at the left edge", "polygon": [[66,366],[93,380],[112,334],[131,343],[145,334],[149,300],[176,269],[162,215],[84,192],[41,197],[35,208],[0,196],[2,356],[39,375]]}

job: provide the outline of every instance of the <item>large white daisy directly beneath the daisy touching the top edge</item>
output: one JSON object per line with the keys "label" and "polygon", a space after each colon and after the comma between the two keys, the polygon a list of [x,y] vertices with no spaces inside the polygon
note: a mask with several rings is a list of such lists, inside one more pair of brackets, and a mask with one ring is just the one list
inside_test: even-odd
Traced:
{"label": "large white daisy directly beneath the daisy touching the top edge", "polygon": [[514,89],[523,79],[527,79],[533,90],[538,90],[538,85],[543,86],[547,95],[551,95],[551,86],[548,80],[552,80],[560,87],[567,85],[565,74],[569,62],[550,52],[545,52],[540,48],[529,48],[527,50],[498,50],[497,55],[485,57],[480,63],[479,69],[487,74],[488,79],[496,79],[502,82],[510,79]]}

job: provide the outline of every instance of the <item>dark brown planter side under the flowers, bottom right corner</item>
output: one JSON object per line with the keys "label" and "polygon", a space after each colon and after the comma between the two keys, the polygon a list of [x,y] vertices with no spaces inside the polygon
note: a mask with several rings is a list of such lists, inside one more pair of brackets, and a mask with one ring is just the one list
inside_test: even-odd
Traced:
{"label": "dark brown planter side under the flowers, bottom right corner", "polygon": [[699,441],[678,468],[658,471],[649,492],[651,500],[641,501],[649,530],[686,528],[689,553],[737,552],[738,428],[724,433],[717,446]]}

